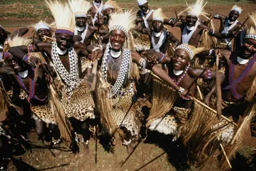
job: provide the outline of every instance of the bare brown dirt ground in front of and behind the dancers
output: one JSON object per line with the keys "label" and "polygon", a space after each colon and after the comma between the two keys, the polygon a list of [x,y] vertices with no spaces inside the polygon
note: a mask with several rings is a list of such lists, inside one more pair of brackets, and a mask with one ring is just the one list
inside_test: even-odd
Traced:
{"label": "bare brown dirt ground in front of and behind the dancers", "polygon": [[[131,4],[125,4],[125,8],[133,8]],[[164,12],[168,17],[175,17],[175,10],[181,12],[184,5],[172,5],[164,7]],[[207,5],[206,10],[209,12],[218,12],[220,14],[228,14],[232,5]],[[3,12],[10,10],[24,10],[31,5],[18,6],[12,5],[11,8],[0,5]],[[240,16],[240,21],[244,21],[248,12],[253,12],[256,5],[252,3],[244,3],[242,5],[244,12]],[[136,8],[138,9],[138,8]],[[28,10],[29,11],[29,10]],[[35,10],[33,12],[42,12]],[[19,27],[27,27],[36,23],[38,19],[31,18],[15,18],[2,17],[0,24],[3,25],[8,31],[14,31]],[[47,21],[52,21],[47,18]],[[218,25],[218,21],[214,20]],[[26,36],[31,36],[31,30]],[[171,28],[177,38],[180,38],[180,30],[178,28]],[[149,133],[145,142],[140,143],[138,148],[129,157],[128,161],[122,166],[125,159],[127,159],[127,152],[124,146],[117,144],[114,148],[114,153],[108,152],[103,148],[102,143],[91,139],[90,140],[90,153],[86,154],[84,148],[80,145],[81,150],[79,154],[71,154],[66,148],[48,149],[45,148],[42,142],[37,140],[36,133],[29,135],[29,140],[33,144],[32,153],[26,152],[21,156],[16,156],[15,161],[10,162],[9,170],[199,170],[190,164],[189,152],[179,142],[171,142],[169,137],[159,135],[157,133]],[[238,149],[236,158],[231,161],[233,170],[253,170],[248,164],[251,159],[250,156],[255,153],[256,138],[251,137],[250,131],[244,135],[242,146]],[[218,160],[212,159],[208,161],[207,165],[202,169],[207,171],[218,170]]]}

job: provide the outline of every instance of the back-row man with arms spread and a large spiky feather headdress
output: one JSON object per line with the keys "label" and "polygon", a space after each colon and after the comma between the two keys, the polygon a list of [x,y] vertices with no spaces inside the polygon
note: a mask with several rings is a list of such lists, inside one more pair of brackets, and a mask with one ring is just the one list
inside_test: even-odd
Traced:
{"label": "back-row man with arms spread and a large spiky feather headdress", "polygon": [[216,35],[216,37],[218,37],[218,34],[215,33],[213,29],[210,29],[199,21],[201,15],[207,17],[203,10],[205,5],[206,3],[203,4],[203,0],[196,0],[194,4],[188,6],[185,21],[183,20],[183,16],[180,16],[180,21],[172,20],[169,22],[169,25],[172,27],[181,28],[181,44],[190,44],[194,47],[198,47],[199,44],[204,41],[202,37],[204,29],[209,31],[209,35]]}

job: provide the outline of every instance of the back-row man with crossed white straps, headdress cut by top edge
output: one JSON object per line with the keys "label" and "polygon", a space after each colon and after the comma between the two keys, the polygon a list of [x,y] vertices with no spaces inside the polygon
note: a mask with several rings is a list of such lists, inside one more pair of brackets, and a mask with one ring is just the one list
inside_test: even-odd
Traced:
{"label": "back-row man with crossed white straps, headdress cut by top edge", "polygon": [[147,0],[138,0],[140,11],[137,12],[136,24],[141,23],[142,28],[152,29],[153,11],[149,9]]}

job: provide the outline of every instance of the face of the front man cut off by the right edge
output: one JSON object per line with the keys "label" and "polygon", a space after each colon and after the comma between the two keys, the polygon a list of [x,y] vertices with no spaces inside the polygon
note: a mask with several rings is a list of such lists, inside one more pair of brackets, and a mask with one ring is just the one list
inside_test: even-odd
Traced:
{"label": "face of the front man cut off by the right edge", "polygon": [[254,53],[256,53],[256,40],[252,38],[244,39],[242,54],[246,57],[251,57]]}

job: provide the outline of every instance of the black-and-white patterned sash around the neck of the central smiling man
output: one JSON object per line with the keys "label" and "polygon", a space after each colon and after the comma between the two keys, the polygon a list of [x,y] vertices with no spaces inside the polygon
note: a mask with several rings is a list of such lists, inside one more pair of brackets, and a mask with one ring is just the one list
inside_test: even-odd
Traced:
{"label": "black-and-white patterned sash around the neck of the central smiling man", "polygon": [[[103,73],[104,79],[107,81],[107,67],[108,67],[108,57],[110,57],[110,43],[107,44],[107,48],[105,50],[102,64],[101,64],[101,72]],[[120,70],[118,73],[118,77],[116,79],[116,82],[114,83],[114,86],[111,88],[111,94],[109,94],[110,97],[112,96],[118,96],[123,88],[123,84],[125,83],[125,79],[127,75],[129,75],[130,70],[130,60],[131,60],[131,51],[129,49],[123,50],[123,62],[120,65]]]}

